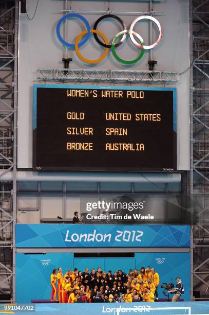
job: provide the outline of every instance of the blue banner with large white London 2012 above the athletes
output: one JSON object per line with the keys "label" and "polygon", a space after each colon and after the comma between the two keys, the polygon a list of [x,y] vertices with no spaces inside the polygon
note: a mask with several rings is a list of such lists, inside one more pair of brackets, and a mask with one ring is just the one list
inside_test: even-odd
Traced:
{"label": "blue banner with large white London 2012 above the athletes", "polygon": [[190,226],[16,224],[16,247],[190,247]]}

